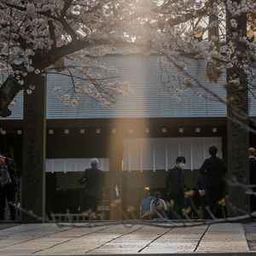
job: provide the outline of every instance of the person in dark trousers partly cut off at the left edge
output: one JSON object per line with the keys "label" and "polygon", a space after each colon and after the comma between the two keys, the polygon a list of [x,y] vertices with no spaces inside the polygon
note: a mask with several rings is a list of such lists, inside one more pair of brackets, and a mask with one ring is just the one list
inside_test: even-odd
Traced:
{"label": "person in dark trousers partly cut off at the left edge", "polygon": [[[6,200],[15,203],[17,191],[16,167],[14,160],[0,154],[0,220],[4,219]],[[15,220],[15,207],[9,204],[11,220]]]}

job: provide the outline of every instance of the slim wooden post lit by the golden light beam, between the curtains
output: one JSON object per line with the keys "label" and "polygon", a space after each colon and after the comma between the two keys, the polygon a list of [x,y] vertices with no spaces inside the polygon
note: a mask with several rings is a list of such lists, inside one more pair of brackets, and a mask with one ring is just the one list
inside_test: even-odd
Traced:
{"label": "slim wooden post lit by the golden light beam, between the curtains", "polygon": [[118,134],[110,137],[109,148],[109,218],[122,218],[121,172],[123,142]]}

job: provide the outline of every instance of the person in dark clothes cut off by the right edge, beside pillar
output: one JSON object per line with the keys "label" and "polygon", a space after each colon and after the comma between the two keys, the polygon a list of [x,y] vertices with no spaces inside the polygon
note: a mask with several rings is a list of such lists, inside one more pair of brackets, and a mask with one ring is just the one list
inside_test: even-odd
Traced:
{"label": "person in dark clothes cut off by the right edge, beside pillar", "polygon": [[[249,171],[250,171],[250,184],[256,186],[256,159],[255,148],[249,148]],[[256,187],[253,188],[253,192],[256,193]],[[251,212],[256,211],[256,196],[250,195]]]}

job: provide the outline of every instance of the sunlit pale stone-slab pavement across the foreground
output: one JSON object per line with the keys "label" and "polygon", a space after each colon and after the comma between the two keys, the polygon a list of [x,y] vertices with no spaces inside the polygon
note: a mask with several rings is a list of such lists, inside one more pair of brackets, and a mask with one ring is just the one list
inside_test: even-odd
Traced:
{"label": "sunlit pale stone-slab pavement across the foreground", "polygon": [[71,224],[62,227],[20,224],[0,229],[0,255],[250,253],[243,225],[239,223],[187,228],[111,222],[100,224],[90,228],[84,224],[76,224],[76,227]]}

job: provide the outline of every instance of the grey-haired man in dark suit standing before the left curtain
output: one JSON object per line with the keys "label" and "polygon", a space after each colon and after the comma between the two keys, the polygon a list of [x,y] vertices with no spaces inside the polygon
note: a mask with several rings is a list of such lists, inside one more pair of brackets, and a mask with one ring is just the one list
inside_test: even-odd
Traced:
{"label": "grey-haired man in dark suit standing before the left curtain", "polygon": [[100,201],[102,201],[103,172],[98,169],[99,160],[90,160],[90,169],[86,169],[79,177],[79,183],[83,184],[81,194],[80,211],[97,211]]}

